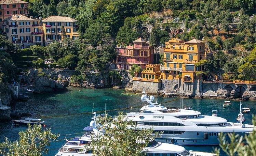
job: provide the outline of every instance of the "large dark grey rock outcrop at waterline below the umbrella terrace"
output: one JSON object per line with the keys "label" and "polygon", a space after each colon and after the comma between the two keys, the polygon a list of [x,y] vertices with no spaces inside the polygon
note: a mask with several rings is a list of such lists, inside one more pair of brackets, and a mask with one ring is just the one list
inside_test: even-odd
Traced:
{"label": "large dark grey rock outcrop at waterline below the umbrella terrace", "polygon": [[35,90],[34,93],[49,93],[58,90],[65,90],[67,87],[67,82],[62,82],[58,80],[49,79],[47,77],[39,77],[35,81]]}

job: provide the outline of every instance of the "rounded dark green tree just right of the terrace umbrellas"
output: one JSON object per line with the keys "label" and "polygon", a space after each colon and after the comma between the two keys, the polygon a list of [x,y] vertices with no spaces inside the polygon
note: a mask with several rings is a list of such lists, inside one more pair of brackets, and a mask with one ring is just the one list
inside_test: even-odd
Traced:
{"label": "rounded dark green tree just right of the terrace umbrellas", "polygon": [[64,58],[60,58],[57,61],[57,64],[61,65],[64,68],[69,68],[69,69],[75,69],[77,66],[77,56],[74,54],[69,54],[65,56]]}

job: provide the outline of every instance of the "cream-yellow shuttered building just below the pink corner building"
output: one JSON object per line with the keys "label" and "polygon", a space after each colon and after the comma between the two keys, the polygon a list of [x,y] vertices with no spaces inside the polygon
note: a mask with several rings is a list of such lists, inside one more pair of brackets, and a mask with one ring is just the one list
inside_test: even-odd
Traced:
{"label": "cream-yellow shuttered building just below the pink corner building", "polygon": [[31,45],[43,45],[43,27],[40,18],[28,18],[26,15],[11,15],[3,20],[3,30],[6,39],[19,45],[19,48],[29,48]]}

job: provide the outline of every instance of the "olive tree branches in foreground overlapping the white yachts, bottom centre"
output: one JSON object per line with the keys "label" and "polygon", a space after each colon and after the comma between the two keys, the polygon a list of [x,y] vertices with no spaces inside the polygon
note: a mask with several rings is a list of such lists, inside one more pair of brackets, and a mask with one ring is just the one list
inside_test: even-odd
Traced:
{"label": "olive tree branches in foreground overlapping the white yachts, bottom centre", "polygon": [[98,156],[143,155],[142,149],[155,138],[151,135],[153,130],[152,128],[138,130],[135,122],[123,121],[124,117],[123,112],[119,112],[117,119],[112,122],[108,122],[111,120],[108,114],[98,119],[98,122],[106,125],[107,128],[104,135],[92,137],[93,154]]}

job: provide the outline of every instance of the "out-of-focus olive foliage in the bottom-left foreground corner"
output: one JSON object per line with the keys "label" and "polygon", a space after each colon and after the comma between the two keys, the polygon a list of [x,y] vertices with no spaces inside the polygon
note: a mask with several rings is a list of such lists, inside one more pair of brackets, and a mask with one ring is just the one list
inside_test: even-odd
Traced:
{"label": "out-of-focus olive foliage in the bottom-left foreground corner", "polygon": [[42,156],[48,153],[46,147],[59,135],[53,134],[51,129],[42,130],[41,125],[28,126],[25,131],[19,132],[19,140],[5,141],[0,143],[0,154],[4,156]]}

